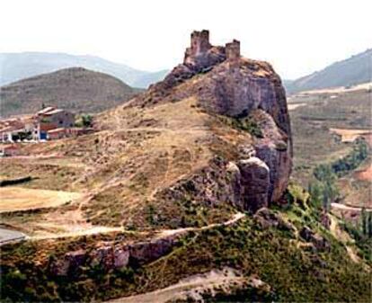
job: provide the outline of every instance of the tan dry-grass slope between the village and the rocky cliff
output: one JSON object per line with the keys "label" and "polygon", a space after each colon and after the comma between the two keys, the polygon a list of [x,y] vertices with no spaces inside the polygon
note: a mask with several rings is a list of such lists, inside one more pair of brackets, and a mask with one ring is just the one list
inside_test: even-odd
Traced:
{"label": "tan dry-grass slope between the village and the rocky cliff", "polygon": [[24,214],[4,223],[37,236],[93,226],[148,227],[150,208],[181,216],[175,203],[161,205],[158,192],[208,166],[216,154],[233,155],[237,144],[251,142],[249,134],[201,111],[193,97],[145,108],[120,106],[99,115],[96,128],[77,139],[22,147],[28,156],[1,160],[4,176],[34,177],[24,187],[89,193],[69,209],[43,211],[37,222],[36,214]]}

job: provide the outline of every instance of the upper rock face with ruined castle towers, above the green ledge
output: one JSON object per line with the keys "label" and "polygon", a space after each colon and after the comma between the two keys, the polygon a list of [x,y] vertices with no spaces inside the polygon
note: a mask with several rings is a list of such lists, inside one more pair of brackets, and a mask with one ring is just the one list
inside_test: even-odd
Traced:
{"label": "upper rock face with ruined castle towers, above the green ledge", "polygon": [[[173,89],[198,74],[208,75],[179,91]],[[215,47],[209,43],[208,31],[194,31],[183,63],[134,103],[154,104],[167,102],[168,97],[174,101],[190,95],[197,95],[208,112],[237,117],[255,109],[266,111],[290,137],[286,93],[280,77],[269,63],[242,58],[238,40]]]}

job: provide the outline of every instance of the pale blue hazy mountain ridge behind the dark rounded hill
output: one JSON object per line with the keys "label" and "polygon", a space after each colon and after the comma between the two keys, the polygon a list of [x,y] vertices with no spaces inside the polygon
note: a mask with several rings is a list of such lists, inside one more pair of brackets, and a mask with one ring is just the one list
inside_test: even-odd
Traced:
{"label": "pale blue hazy mountain ridge behind the dark rounded hill", "polygon": [[141,88],[162,80],[166,73],[164,70],[155,73],[137,70],[94,56],[46,52],[0,53],[0,85],[67,67],[84,67],[106,73]]}

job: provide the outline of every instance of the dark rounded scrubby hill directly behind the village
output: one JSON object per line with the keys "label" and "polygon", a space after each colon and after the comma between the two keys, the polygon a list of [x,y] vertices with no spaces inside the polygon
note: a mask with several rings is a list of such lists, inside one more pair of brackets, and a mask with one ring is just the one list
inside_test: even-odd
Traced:
{"label": "dark rounded scrubby hill directly behind the village", "polygon": [[42,104],[75,112],[103,111],[137,93],[113,76],[71,67],[0,87],[0,116],[32,113]]}

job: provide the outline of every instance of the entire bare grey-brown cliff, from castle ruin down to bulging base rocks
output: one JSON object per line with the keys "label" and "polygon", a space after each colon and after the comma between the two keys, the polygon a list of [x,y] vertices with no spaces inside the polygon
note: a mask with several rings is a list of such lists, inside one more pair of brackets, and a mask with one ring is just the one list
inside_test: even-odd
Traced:
{"label": "entire bare grey-brown cliff, from castle ruin down to bulging base rocks", "polygon": [[208,31],[194,31],[183,63],[133,104],[190,97],[209,114],[233,119],[249,116],[261,129],[262,138],[253,138],[253,145],[249,142],[244,147],[248,152],[239,150],[239,157],[230,164],[233,191],[226,192],[225,201],[252,212],[279,201],[291,173],[292,139],[285,90],[270,64],[242,58],[237,40],[215,47],[209,43]]}

